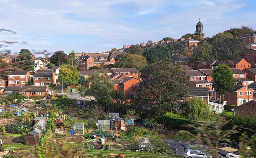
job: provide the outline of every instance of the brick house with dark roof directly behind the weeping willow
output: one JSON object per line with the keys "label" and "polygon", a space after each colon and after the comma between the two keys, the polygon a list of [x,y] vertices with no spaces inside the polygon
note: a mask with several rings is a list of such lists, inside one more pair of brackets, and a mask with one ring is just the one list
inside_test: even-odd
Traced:
{"label": "brick house with dark roof directly behind the weeping willow", "polygon": [[188,87],[189,94],[186,99],[201,98],[207,105],[209,103],[209,90],[207,87]]}

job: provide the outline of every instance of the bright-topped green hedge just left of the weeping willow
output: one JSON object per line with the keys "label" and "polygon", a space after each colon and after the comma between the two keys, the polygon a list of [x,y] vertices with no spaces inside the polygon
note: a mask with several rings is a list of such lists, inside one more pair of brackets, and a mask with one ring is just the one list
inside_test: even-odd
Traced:
{"label": "bright-topped green hedge just left of the weeping willow", "polygon": [[164,115],[164,124],[170,125],[172,128],[178,129],[180,127],[180,125],[195,124],[195,123],[196,123],[195,121],[183,118],[179,114],[166,113]]}

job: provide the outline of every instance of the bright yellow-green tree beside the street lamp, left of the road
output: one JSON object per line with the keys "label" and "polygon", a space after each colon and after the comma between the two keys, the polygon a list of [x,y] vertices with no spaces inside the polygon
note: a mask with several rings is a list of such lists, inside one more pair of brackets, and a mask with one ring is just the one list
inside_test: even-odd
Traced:
{"label": "bright yellow-green tree beside the street lamp, left of the road", "polygon": [[66,65],[66,64],[61,65],[58,79],[61,84],[64,84],[67,86],[67,90],[68,90],[68,86],[70,85],[75,86],[80,79],[79,73],[77,71],[77,66]]}

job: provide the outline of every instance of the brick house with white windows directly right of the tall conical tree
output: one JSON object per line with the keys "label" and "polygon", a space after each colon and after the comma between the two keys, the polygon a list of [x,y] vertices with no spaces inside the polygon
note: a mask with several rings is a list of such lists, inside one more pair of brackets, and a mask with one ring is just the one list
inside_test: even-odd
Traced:
{"label": "brick house with white windows directly right of the tall conical tree", "polygon": [[253,80],[246,78],[247,73],[240,69],[232,68],[231,71],[236,80],[236,85],[248,86],[254,82]]}

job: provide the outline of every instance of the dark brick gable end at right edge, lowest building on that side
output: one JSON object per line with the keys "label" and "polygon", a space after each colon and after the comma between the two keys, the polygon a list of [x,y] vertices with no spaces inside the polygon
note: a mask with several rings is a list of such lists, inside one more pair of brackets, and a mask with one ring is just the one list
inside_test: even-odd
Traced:
{"label": "dark brick gable end at right edge, lowest building on that side", "polygon": [[246,117],[252,115],[256,119],[256,101],[251,100],[238,107],[232,109],[234,111],[234,116],[239,115],[240,117]]}

